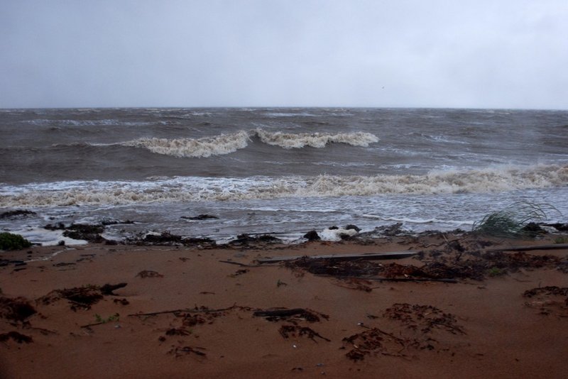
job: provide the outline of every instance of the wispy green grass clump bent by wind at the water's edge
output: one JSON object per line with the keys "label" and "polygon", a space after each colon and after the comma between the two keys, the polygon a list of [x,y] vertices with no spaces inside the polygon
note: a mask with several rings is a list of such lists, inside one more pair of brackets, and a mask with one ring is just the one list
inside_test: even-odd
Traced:
{"label": "wispy green grass clump bent by wind at the water's edge", "polygon": [[494,237],[528,237],[534,236],[526,228],[528,224],[547,219],[547,211],[559,211],[550,204],[516,202],[498,212],[487,214],[479,223],[475,223],[473,231],[477,234]]}

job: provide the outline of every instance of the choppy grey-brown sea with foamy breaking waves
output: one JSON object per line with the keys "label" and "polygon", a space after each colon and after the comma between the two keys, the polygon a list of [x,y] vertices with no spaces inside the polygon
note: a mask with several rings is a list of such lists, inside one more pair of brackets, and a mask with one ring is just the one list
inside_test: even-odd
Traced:
{"label": "choppy grey-brown sea with foamy breaking waves", "polygon": [[519,201],[566,220],[568,111],[0,109],[0,212],[35,212],[0,229],[35,243],[117,220],[106,238],[469,230]]}

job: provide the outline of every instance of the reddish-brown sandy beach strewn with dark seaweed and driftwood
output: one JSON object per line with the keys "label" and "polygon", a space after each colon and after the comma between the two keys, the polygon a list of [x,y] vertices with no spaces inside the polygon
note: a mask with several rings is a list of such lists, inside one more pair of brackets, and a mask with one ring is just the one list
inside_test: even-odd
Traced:
{"label": "reddish-brown sandy beach strewn with dark seaweed and driftwood", "polygon": [[[502,250],[552,239],[4,252],[0,376],[562,378],[568,249]],[[392,251],[417,255],[258,264]]]}

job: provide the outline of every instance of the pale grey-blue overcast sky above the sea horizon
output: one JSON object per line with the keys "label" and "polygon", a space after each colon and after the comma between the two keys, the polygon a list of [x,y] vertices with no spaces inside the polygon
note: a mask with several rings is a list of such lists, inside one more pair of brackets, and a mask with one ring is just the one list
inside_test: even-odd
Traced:
{"label": "pale grey-blue overcast sky above the sea horizon", "polygon": [[568,109],[567,0],[0,0],[0,107]]}

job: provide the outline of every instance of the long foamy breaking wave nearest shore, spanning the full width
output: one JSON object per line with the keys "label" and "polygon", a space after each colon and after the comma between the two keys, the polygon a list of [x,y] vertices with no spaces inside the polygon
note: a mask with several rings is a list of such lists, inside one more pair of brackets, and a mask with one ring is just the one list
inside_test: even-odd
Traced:
{"label": "long foamy breaking wave nearest shore, spanning the full width", "polygon": [[0,207],[148,204],[286,197],[461,194],[565,187],[568,166],[453,170],[426,175],[314,177],[174,177],[145,182],[55,182],[0,187]]}

